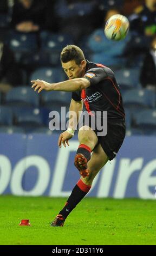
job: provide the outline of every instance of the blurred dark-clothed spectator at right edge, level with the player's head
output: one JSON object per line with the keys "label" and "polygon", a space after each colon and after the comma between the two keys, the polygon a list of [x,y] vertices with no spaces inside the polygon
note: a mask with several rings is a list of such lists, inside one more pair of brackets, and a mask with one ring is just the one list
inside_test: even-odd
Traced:
{"label": "blurred dark-clothed spectator at right edge, level with the player's head", "polygon": [[156,89],[156,36],[147,52],[140,72],[142,87]]}

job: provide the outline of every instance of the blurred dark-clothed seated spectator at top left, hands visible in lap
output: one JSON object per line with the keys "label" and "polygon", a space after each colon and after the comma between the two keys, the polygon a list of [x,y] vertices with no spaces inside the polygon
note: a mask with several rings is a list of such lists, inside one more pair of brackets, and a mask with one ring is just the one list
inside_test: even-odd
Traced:
{"label": "blurred dark-clothed seated spectator at top left, hands visible in lap", "polygon": [[37,32],[44,28],[46,1],[15,0],[11,25],[19,32]]}

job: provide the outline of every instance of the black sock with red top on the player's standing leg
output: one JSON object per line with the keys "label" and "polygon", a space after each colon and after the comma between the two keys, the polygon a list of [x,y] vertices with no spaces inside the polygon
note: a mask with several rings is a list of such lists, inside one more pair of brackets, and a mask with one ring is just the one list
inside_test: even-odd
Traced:
{"label": "black sock with red top on the player's standing leg", "polygon": [[89,192],[90,188],[91,188],[91,186],[86,185],[85,183],[83,183],[82,180],[79,180],[77,182],[76,186],[73,188],[73,191],[70,194],[66,205],[59,212],[59,214],[62,214],[65,218],[67,218],[67,216],[76,207],[76,205],[80,203],[82,198],[86,196],[86,194]]}

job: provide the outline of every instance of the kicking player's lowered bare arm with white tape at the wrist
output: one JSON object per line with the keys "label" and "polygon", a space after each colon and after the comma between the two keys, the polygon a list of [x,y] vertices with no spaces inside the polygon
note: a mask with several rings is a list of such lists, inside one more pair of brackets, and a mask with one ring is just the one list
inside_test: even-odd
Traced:
{"label": "kicking player's lowered bare arm with white tape at the wrist", "polygon": [[81,113],[83,109],[83,101],[71,100],[69,108],[69,125],[67,131],[61,133],[59,137],[58,146],[61,148],[61,145],[66,148],[66,144],[69,146],[69,139],[73,138],[74,131],[79,122]]}

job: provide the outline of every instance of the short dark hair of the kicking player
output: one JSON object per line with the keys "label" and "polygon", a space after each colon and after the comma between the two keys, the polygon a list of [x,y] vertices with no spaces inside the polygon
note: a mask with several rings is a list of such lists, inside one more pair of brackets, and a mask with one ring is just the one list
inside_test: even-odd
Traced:
{"label": "short dark hair of the kicking player", "polygon": [[76,45],[68,45],[61,52],[61,62],[67,63],[70,60],[75,60],[77,65],[80,65],[82,60],[85,60],[82,50]]}

